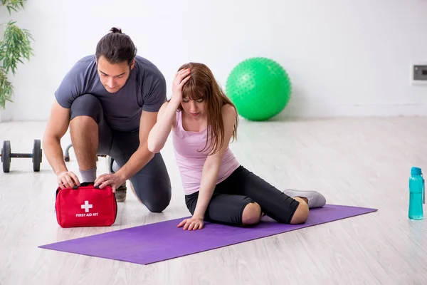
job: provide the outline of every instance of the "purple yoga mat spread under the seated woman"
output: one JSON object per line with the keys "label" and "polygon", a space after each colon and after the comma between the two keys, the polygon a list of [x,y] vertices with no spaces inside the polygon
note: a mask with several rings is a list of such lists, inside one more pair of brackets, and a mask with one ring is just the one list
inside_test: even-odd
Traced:
{"label": "purple yoga mat spread under the seated woman", "polygon": [[231,227],[206,222],[203,229],[196,231],[177,228],[176,225],[184,219],[180,218],[40,247],[136,264],[152,264],[375,211],[327,204],[322,208],[311,209],[305,224],[279,224],[264,217],[254,227]]}

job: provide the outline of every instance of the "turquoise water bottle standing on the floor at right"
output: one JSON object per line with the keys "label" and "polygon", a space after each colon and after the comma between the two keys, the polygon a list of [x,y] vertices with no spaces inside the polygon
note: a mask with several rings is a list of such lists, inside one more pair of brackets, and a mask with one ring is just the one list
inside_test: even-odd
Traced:
{"label": "turquoise water bottle standing on the floor at right", "polygon": [[424,178],[421,168],[412,167],[409,177],[409,219],[423,219],[423,204],[426,203]]}

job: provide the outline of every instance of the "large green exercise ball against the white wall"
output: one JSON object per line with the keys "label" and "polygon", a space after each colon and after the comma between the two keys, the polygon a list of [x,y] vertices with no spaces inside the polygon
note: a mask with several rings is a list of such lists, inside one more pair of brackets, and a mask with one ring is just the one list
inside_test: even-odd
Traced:
{"label": "large green exercise ball against the white wall", "polygon": [[248,120],[268,120],[288,104],[291,83],[285,69],[269,58],[248,58],[233,68],[226,81],[228,98]]}

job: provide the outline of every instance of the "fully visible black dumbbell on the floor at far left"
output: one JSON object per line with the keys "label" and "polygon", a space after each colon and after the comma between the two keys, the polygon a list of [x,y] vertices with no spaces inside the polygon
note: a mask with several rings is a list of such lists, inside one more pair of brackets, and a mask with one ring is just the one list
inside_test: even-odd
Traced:
{"label": "fully visible black dumbbell on the floor at far left", "polygon": [[40,171],[41,157],[43,150],[41,150],[40,140],[34,140],[33,153],[12,153],[11,142],[4,140],[3,148],[1,148],[1,162],[3,162],[3,172],[9,172],[11,169],[11,159],[16,158],[32,158],[33,171]]}

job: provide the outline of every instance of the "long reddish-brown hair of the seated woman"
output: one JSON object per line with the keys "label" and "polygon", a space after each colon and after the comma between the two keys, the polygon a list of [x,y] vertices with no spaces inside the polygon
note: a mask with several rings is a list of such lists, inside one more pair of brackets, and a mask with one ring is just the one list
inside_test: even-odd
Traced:
{"label": "long reddish-brown hair of the seated woman", "polygon": [[[214,154],[221,149],[224,143],[222,107],[223,105],[229,104],[236,110],[236,106],[228,99],[226,94],[223,93],[223,90],[216,82],[214,74],[209,67],[203,63],[186,63],[181,66],[178,71],[184,68],[190,68],[191,77],[182,87],[182,98],[189,98],[190,100],[199,100],[203,98],[206,102],[208,135],[206,138],[206,145],[201,151],[206,150],[206,147],[209,145],[209,153]],[[179,110],[181,110],[181,112],[184,110],[181,105],[179,105]],[[233,140],[237,138],[237,127],[238,115],[236,110],[236,120],[231,137]],[[214,140],[212,140],[212,138]]]}

